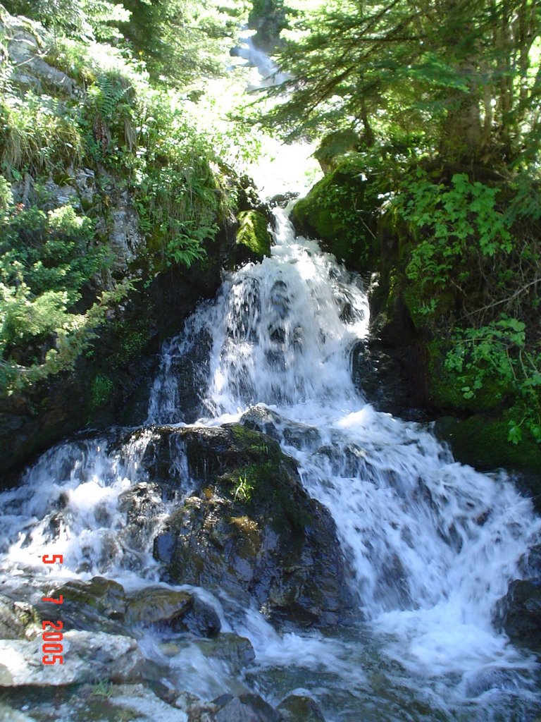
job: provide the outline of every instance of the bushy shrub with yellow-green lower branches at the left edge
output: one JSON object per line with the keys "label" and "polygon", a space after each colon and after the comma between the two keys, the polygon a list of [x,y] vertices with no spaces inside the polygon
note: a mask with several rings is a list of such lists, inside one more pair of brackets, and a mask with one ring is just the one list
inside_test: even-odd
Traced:
{"label": "bushy shrub with yellow-green lower branches at the left edge", "polygon": [[84,284],[110,259],[104,248],[91,245],[91,219],[72,206],[45,213],[14,204],[4,178],[0,197],[0,384],[5,392],[69,367],[105,319],[115,293],[104,294],[86,313],[73,308]]}

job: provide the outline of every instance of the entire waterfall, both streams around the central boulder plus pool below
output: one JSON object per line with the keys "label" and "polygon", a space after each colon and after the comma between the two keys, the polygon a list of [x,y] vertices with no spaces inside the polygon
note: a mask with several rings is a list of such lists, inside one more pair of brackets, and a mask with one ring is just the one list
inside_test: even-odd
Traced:
{"label": "entire waterfall, both streams around the central boulder plus pool below", "polygon": [[[224,630],[250,638],[255,662],[235,681],[188,645],[168,663],[170,680],[208,699],[239,684],[273,703],[307,690],[329,722],[533,718],[537,664],[492,619],[540,538],[540,518],[503,472],[455,463],[426,425],[366,403],[351,375],[369,321],[359,277],[317,242],[295,238],[279,209],[275,235],[271,258],[229,274],[216,300],[165,344],[143,428],[58,445],[1,495],[4,589],[28,575],[36,588],[54,575],[157,583],[151,542],[190,479],[182,448],[171,448],[175,499],[156,497],[148,518],[131,525],[126,500],[152,482],[142,462],[155,425],[213,427],[255,409],[333,515],[357,620],[325,635],[278,633],[255,609],[198,590]],[[43,570],[45,552],[63,554],[61,572]],[[149,635],[140,648],[159,657]]]}

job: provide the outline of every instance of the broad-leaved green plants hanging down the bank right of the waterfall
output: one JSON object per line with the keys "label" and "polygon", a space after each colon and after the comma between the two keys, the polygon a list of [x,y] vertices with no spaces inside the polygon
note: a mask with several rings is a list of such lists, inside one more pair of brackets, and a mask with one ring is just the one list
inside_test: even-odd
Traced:
{"label": "broad-leaved green plants hanging down the bank right of the waterfall", "polygon": [[445,369],[465,406],[490,391],[493,403],[513,403],[512,443],[524,430],[541,441],[536,183],[523,174],[488,186],[465,173],[435,183],[418,170],[393,201],[415,238],[404,293],[416,324],[447,337]]}

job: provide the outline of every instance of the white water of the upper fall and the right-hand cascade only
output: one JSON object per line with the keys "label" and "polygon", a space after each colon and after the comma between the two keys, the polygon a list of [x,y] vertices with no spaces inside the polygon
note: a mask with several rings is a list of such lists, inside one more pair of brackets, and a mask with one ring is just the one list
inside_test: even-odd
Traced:
{"label": "white water of the upper fall and the right-hand cascade only", "polygon": [[234,274],[168,347],[150,420],[172,420],[167,360],[206,329],[214,344],[201,423],[237,419],[253,404],[278,414],[284,451],[333,513],[360,607],[385,654],[421,679],[456,674],[448,699],[491,675],[501,686],[503,670],[529,677],[532,660],[491,619],[540,539],[540,519],[505,474],[454,463],[426,428],[366,404],[349,362],[366,335],[366,295],[315,242],[295,240],[283,213],[277,220],[272,258]]}

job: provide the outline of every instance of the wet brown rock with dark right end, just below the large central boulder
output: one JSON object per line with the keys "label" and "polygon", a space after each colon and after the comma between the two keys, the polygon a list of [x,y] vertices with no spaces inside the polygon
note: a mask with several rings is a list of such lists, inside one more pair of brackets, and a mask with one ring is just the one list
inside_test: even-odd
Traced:
{"label": "wet brown rock with dark right end, just below the large central boulder", "polygon": [[214,637],[221,627],[218,614],[195,594],[162,587],[141,589],[130,596],[126,620],[188,631],[198,637]]}

